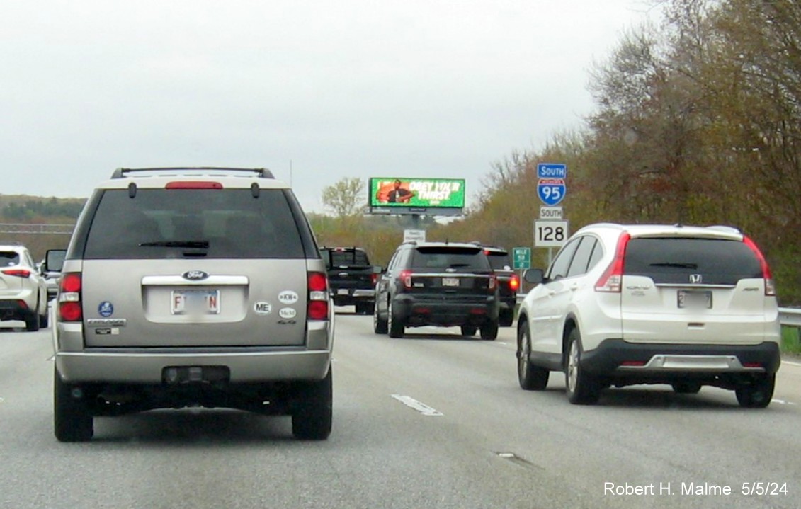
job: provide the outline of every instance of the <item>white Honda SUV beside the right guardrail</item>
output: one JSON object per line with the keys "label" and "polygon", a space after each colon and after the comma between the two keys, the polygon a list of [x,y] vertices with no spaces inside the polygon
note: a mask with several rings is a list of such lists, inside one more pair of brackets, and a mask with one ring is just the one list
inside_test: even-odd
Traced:
{"label": "white Honda SUV beside the right guardrail", "polygon": [[517,375],[542,390],[564,371],[571,403],[606,387],[666,383],[695,393],[734,390],[767,407],[781,327],[771,272],[755,243],[729,226],[585,226],[559,250],[517,323]]}

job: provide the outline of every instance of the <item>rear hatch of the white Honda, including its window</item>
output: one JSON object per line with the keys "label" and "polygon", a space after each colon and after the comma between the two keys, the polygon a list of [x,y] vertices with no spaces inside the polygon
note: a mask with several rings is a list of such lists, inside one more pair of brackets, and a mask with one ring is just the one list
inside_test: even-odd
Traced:
{"label": "rear hatch of the white Honda, including its window", "polygon": [[631,238],[623,271],[626,341],[755,344],[775,318],[763,267],[742,240]]}

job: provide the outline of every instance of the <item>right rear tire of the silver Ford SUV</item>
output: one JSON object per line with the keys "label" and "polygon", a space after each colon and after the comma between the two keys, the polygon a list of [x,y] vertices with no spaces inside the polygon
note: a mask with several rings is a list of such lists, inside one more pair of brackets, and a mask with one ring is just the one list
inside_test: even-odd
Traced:
{"label": "right rear tire of the silver Ford SUV", "polygon": [[292,411],[292,435],[301,440],[324,440],[333,423],[332,367],[318,382],[298,383],[296,406]]}

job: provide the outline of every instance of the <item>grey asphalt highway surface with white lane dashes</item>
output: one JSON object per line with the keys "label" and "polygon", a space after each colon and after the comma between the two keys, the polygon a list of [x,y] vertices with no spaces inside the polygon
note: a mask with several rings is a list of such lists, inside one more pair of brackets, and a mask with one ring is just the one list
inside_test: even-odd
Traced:
{"label": "grey asphalt highway surface with white lane dashes", "polygon": [[0,324],[0,507],[801,507],[801,363],[764,410],[667,386],[583,407],[560,374],[520,389],[513,328],[390,339],[338,309],[324,442],[293,439],[288,417],[184,409],[58,443],[50,330]]}

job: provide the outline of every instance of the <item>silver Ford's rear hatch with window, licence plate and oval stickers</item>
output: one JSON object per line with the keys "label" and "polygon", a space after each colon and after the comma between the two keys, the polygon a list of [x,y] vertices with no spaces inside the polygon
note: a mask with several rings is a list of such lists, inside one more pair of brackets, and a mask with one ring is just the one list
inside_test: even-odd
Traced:
{"label": "silver Ford's rear hatch with window, licence plate and oval stickers", "polygon": [[291,208],[277,189],[103,191],[83,248],[87,347],[303,345]]}

